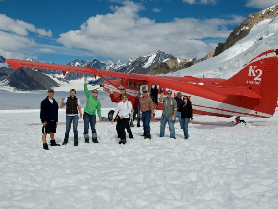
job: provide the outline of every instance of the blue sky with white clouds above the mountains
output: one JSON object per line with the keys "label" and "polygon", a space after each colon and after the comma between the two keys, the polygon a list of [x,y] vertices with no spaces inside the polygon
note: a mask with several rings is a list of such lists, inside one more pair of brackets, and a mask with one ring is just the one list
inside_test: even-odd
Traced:
{"label": "blue sky with white clouds above the mountains", "polygon": [[0,0],[0,55],[66,64],[149,55],[202,58],[278,0]]}

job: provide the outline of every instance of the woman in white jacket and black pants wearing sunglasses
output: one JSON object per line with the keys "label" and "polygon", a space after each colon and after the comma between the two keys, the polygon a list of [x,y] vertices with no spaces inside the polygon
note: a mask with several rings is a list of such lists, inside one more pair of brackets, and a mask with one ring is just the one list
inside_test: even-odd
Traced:
{"label": "woman in white jacket and black pants wearing sunglasses", "polygon": [[125,138],[125,127],[129,123],[129,113],[132,109],[132,104],[128,101],[129,95],[127,93],[123,93],[122,101],[118,103],[116,110],[113,115],[113,119],[111,123],[113,124],[114,118],[116,118],[117,114],[117,134],[121,136],[121,140],[119,144],[126,144]]}

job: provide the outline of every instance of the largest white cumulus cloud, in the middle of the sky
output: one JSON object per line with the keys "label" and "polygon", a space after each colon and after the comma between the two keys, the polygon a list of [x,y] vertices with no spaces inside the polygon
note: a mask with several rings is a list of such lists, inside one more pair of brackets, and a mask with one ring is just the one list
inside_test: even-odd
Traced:
{"label": "largest white cumulus cloud, in the middle of the sky", "polygon": [[65,47],[86,49],[95,56],[123,62],[158,49],[175,57],[201,58],[215,47],[202,40],[226,39],[231,33],[227,25],[244,20],[231,16],[228,20],[175,18],[171,22],[156,23],[139,17],[138,12],[144,9],[141,4],[125,1],[122,7],[112,8],[113,13],[90,17],[80,30],[60,34],[58,42]]}

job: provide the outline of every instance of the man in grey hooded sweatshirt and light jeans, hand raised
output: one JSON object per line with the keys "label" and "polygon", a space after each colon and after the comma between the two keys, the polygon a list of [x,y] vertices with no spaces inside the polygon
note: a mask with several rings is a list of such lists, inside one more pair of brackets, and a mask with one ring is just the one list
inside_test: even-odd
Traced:
{"label": "man in grey hooded sweatshirt and light jeans, hand raised", "polygon": [[170,137],[173,139],[175,138],[175,129],[174,129],[174,123],[175,123],[175,114],[177,109],[177,102],[172,97],[172,91],[167,91],[167,97],[164,97],[164,93],[161,93],[161,96],[159,98],[160,102],[163,102],[163,111],[162,116],[160,120],[160,137],[164,136],[165,126],[168,122],[169,125],[169,131],[170,131]]}

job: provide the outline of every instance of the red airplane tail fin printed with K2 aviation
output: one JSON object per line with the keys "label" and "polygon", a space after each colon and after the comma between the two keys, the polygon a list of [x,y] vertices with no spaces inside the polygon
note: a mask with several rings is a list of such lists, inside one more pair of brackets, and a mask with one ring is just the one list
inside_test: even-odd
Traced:
{"label": "red airplane tail fin printed with K2 aviation", "polygon": [[269,46],[259,48],[239,73],[215,86],[223,91],[227,89],[230,94],[258,98],[256,111],[273,115],[278,96],[278,59],[275,51]]}

